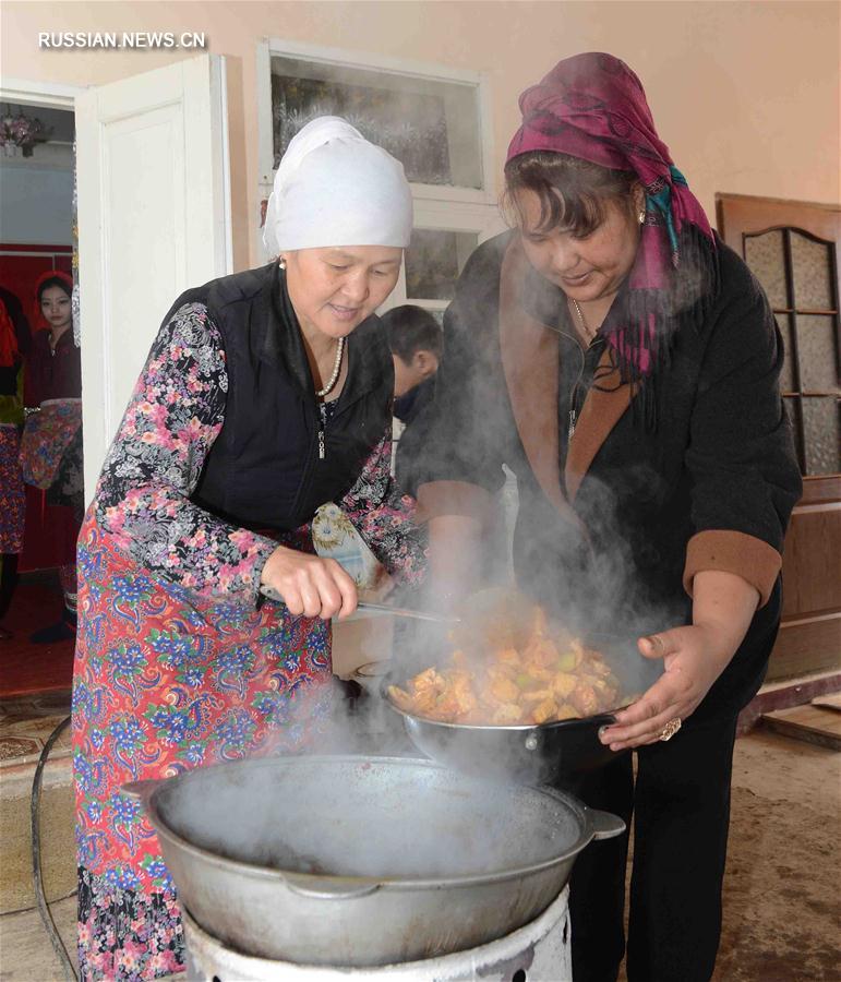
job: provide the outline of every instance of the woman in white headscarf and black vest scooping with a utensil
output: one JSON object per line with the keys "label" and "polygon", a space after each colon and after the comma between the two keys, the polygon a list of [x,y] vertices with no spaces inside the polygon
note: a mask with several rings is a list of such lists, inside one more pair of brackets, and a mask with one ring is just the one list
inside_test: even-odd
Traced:
{"label": "woman in white headscarf and black vest scooping with a utensil", "polygon": [[269,201],[277,260],[182,295],[152,346],[79,540],[85,979],[182,961],[157,839],[120,786],[297,746],[326,712],[329,619],[357,597],[313,553],[316,508],[336,502],[391,573],[420,575],[410,500],[388,476],[393,363],[374,315],[411,218],[400,164],[314,120]]}

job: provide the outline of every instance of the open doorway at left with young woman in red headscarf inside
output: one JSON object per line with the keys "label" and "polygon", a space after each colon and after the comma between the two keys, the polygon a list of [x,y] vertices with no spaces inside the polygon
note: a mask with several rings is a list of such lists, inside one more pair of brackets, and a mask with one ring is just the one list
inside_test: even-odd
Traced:
{"label": "open doorway at left with young woman in red headscarf inside", "polygon": [[[72,301],[73,97],[21,83],[0,91],[0,299],[11,337],[2,348],[9,364],[0,366],[4,698],[65,693],[72,679],[75,539],[84,503]],[[60,433],[50,422],[58,405],[77,420]],[[27,459],[38,463],[45,441],[52,463],[28,466]]]}

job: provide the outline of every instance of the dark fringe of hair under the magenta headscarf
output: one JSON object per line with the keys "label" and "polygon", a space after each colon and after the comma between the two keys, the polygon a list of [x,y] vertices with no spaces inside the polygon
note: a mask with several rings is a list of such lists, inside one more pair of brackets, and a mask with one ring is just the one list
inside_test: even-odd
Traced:
{"label": "dark fringe of hair under the magenta headscarf", "polygon": [[503,208],[520,214],[518,191],[533,191],[540,199],[540,224],[548,232],[563,228],[574,236],[589,236],[604,220],[604,205],[615,201],[635,211],[634,188],[639,178],[630,170],[612,170],[579,157],[551,151],[529,151],[505,165]]}

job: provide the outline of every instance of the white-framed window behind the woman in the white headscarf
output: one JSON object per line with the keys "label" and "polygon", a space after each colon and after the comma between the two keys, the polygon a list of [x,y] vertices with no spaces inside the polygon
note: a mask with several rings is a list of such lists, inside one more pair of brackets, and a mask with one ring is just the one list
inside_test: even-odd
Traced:
{"label": "white-framed window behind the woman in the white headscarf", "polygon": [[476,247],[504,227],[490,142],[486,79],[443,65],[269,39],[259,49],[261,188],[292,136],[341,116],[399,159],[415,201],[415,235],[386,307],[436,314]]}

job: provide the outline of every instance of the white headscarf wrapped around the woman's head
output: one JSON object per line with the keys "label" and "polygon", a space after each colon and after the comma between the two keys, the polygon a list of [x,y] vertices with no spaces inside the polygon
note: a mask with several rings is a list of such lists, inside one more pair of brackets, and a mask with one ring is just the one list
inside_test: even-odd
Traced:
{"label": "white headscarf wrapped around the woman's head", "polygon": [[271,256],[327,246],[409,244],[412,205],[403,164],[336,116],[292,139],[275,175],[263,244]]}

